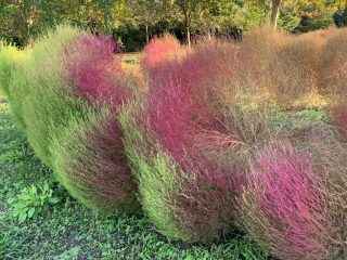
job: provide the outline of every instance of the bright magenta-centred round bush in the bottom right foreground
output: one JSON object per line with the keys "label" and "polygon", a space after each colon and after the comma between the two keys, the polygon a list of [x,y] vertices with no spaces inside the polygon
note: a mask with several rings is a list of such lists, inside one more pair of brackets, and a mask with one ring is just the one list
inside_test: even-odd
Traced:
{"label": "bright magenta-centred round bush in the bottom right foreground", "polygon": [[327,259],[332,229],[326,181],[292,145],[270,146],[250,167],[241,202],[242,223],[282,259]]}

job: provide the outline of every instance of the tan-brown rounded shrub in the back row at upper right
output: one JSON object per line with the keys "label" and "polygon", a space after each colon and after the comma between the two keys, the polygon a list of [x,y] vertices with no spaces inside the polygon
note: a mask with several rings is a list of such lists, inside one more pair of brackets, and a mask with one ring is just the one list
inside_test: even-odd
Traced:
{"label": "tan-brown rounded shrub in the back row at upper right", "polygon": [[317,32],[292,36],[268,27],[250,31],[241,43],[239,80],[248,92],[256,90],[282,107],[307,103],[317,94],[317,66],[324,42]]}

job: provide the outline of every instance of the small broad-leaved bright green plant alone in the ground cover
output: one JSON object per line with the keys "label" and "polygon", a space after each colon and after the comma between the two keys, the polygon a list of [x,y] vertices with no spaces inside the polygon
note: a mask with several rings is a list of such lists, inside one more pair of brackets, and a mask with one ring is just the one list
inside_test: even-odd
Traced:
{"label": "small broad-leaved bright green plant alone in the ground cover", "polygon": [[13,207],[13,217],[18,218],[20,223],[35,218],[48,204],[59,202],[48,182],[39,188],[35,185],[25,187],[20,195],[9,199],[9,204]]}

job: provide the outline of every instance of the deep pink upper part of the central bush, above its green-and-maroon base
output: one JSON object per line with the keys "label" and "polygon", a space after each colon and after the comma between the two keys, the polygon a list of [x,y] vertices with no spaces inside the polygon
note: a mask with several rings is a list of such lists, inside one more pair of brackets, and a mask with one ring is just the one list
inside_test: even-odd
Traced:
{"label": "deep pink upper part of the central bush, above its green-and-maroon base", "polygon": [[187,153],[196,155],[201,152],[196,147],[204,150],[211,143],[211,139],[205,140],[206,145],[204,140],[196,143],[196,136],[210,133],[214,142],[226,142],[226,136],[230,141],[215,102],[221,91],[218,82],[232,74],[226,50],[217,47],[198,47],[182,62],[166,62],[164,67],[170,69],[153,76],[144,118],[152,138],[177,160]]}

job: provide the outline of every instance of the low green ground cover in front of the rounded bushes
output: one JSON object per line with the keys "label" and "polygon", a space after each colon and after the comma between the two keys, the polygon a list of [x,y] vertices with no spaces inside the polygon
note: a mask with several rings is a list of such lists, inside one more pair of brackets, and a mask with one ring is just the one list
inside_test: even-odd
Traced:
{"label": "low green ground cover in front of the rounded bushes", "polygon": [[[48,183],[57,204],[36,207],[20,223],[11,199]],[[25,196],[25,194],[24,194]],[[38,212],[38,210],[40,212]],[[230,234],[210,246],[169,242],[143,216],[106,217],[72,198],[35,156],[0,94],[0,259],[245,259],[268,257]]]}

